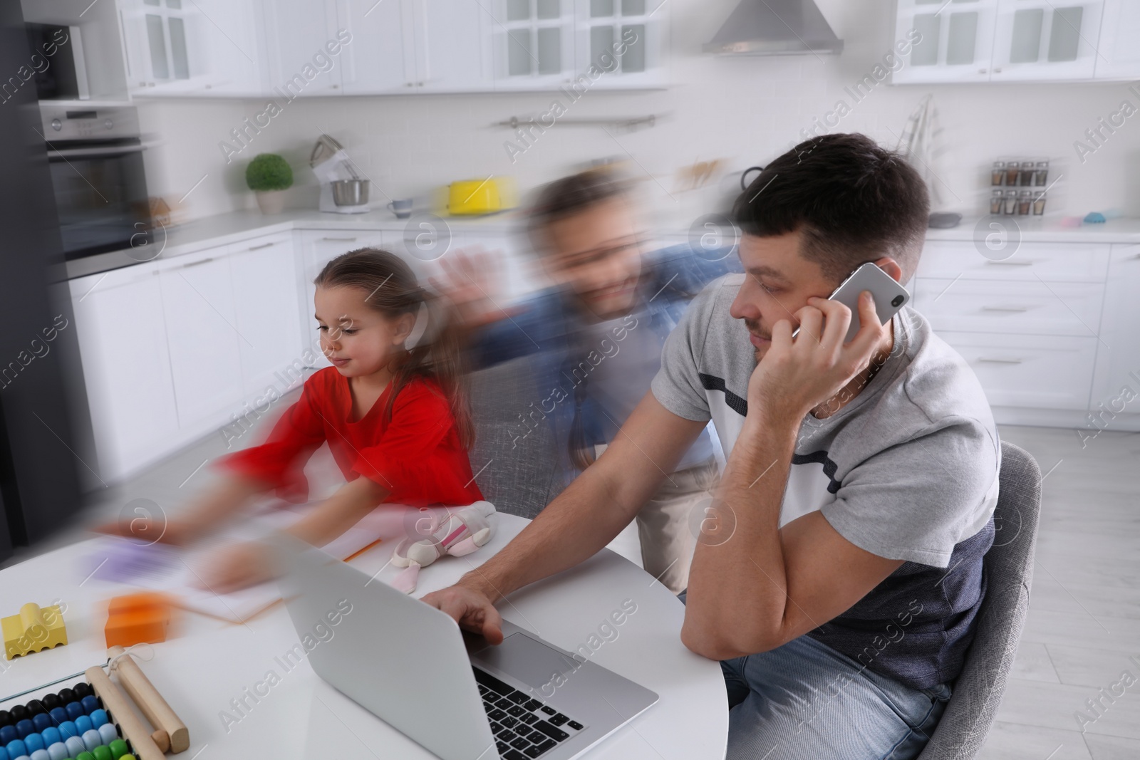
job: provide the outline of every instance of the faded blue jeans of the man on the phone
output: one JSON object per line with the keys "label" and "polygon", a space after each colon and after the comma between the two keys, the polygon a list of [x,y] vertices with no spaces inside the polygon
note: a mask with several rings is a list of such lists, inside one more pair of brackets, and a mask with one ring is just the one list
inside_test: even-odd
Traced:
{"label": "faded blue jeans of the man on the phone", "polygon": [[809,636],[725,660],[720,670],[727,760],[911,760],[951,695],[945,684],[904,686]]}

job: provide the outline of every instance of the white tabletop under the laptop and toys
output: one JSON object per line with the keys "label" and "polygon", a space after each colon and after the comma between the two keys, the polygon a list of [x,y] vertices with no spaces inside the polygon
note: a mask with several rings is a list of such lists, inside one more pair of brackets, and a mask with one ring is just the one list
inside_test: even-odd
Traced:
{"label": "white tabletop under the laptop and toys", "polygon": [[[495,538],[475,554],[445,557],[422,570],[416,596],[453,583],[498,551],[528,522],[503,514],[498,520]],[[394,541],[380,544],[356,557],[352,565],[368,574],[383,567],[377,580],[390,581],[397,569],[385,564],[393,546]],[[41,606],[62,602],[71,641],[11,662],[0,660],[0,697],[105,662],[106,599],[122,588],[87,579],[93,564],[84,564],[85,554],[84,544],[78,544],[0,571],[0,615],[16,614],[27,602]],[[724,758],[728,713],[720,665],[682,645],[683,605],[643,570],[603,549],[578,567],[527,587],[498,606],[512,622],[572,651],[625,599],[633,599],[637,611],[592,660],[653,689],[661,698],[587,757]],[[320,680],[308,661],[291,670],[278,663],[277,659],[298,643],[284,605],[244,626],[189,613],[181,622],[177,637],[155,645],[153,660],[141,663],[190,729],[190,749],[179,757],[433,757]],[[266,696],[252,696],[246,689],[266,681],[270,670],[279,683]],[[16,702],[28,698],[32,696]],[[231,701],[243,698],[249,706],[238,712]],[[222,711],[237,719],[229,721],[228,730]]]}

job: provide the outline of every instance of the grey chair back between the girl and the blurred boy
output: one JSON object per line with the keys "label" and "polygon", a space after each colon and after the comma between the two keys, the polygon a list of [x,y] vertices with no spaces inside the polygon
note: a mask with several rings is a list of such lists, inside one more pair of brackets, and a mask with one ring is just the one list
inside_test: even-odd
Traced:
{"label": "grey chair back between the girl and the blurred boy", "polygon": [[534,367],[532,357],[521,357],[469,378],[475,483],[498,512],[527,518],[542,512],[563,484],[554,435],[539,409],[549,391],[538,392]]}

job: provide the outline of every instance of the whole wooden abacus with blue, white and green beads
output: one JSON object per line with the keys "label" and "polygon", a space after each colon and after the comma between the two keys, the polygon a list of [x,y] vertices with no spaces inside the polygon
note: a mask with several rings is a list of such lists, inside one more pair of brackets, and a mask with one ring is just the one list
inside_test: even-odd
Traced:
{"label": "whole wooden abacus with blue, white and green beads", "polygon": [[[26,704],[0,710],[0,760],[163,760],[166,751],[189,746],[189,734],[170,705],[122,647],[106,665],[93,665],[8,700],[56,686],[78,676],[87,680]],[[116,669],[156,730],[148,732],[104,667]],[[6,700],[6,701],[8,701]]]}

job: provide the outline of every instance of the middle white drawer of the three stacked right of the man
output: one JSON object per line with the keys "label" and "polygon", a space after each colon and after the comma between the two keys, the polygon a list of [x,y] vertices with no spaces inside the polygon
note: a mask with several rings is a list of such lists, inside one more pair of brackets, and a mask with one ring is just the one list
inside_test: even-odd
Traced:
{"label": "middle white drawer of the three stacked right of the man", "polygon": [[920,277],[914,308],[942,330],[1096,337],[1102,285]]}

